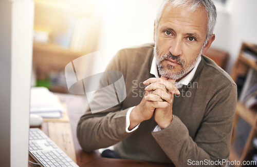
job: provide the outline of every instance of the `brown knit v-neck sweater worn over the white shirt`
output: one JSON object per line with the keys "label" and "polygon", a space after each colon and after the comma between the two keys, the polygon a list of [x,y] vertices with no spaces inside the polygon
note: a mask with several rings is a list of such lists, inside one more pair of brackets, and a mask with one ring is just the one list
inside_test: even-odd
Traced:
{"label": "brown knit v-neck sweater worn over the white shirt", "polygon": [[[150,74],[152,59],[152,44],[117,53],[107,70],[123,73],[126,99],[103,112],[91,114],[90,110],[86,111],[77,128],[81,147],[93,151],[115,144],[115,152],[120,158],[174,163],[176,166],[228,158],[236,85],[206,56],[201,56],[191,85],[180,88],[180,95],[175,96],[174,119],[166,129],[153,132],[157,123],[151,118],[141,122],[136,131],[125,131],[128,109],[138,105],[143,97],[142,82],[154,77]],[[101,99],[101,105],[104,105],[103,96],[98,94],[95,98],[96,101]]]}

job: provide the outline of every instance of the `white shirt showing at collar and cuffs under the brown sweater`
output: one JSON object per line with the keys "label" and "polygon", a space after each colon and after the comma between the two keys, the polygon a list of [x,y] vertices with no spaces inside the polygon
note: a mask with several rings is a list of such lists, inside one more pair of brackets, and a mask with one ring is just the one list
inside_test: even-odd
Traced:
{"label": "white shirt showing at collar and cuffs under the brown sweater", "polygon": [[[188,74],[186,75],[185,77],[183,77],[182,79],[180,79],[178,82],[175,82],[174,85],[179,89],[179,88],[182,88],[183,85],[186,85],[188,86],[189,82],[193,79],[194,77],[194,74],[196,72],[196,69],[198,67],[198,65],[200,64],[200,61],[201,61],[201,56],[198,57],[197,61],[196,61],[196,64],[195,64],[195,67],[193,68],[193,70]],[[157,70],[157,65],[156,65],[156,58],[155,56],[153,57],[153,61],[152,61],[152,65],[151,65],[151,69],[150,69],[150,74],[153,74],[156,78],[160,78],[159,74],[158,74],[158,70]],[[135,107],[135,106],[134,106]],[[127,111],[127,114],[126,114],[126,132],[127,133],[130,133],[130,132],[133,132],[135,131],[138,127],[139,127],[139,124],[133,128],[131,131],[128,130],[128,127],[130,127],[130,113],[131,111],[134,109],[134,107],[131,107],[128,111]],[[157,132],[157,131],[160,131],[160,127],[159,125],[157,125],[154,129],[154,132]]]}

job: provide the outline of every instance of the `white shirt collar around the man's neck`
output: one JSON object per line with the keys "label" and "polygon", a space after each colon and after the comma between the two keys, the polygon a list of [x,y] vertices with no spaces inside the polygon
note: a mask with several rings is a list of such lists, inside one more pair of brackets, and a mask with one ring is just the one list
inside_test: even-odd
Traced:
{"label": "white shirt collar around the man's neck", "polygon": [[[177,86],[177,88],[181,88],[183,85],[188,85],[189,82],[193,79],[194,74],[196,72],[196,69],[198,67],[198,65],[200,64],[201,61],[201,56],[199,56],[197,58],[195,67],[193,68],[193,70],[186,75],[185,77],[183,77],[181,80],[179,80],[178,82],[175,82],[175,86]],[[156,58],[154,56],[153,61],[152,61],[152,65],[151,65],[151,70],[150,70],[150,74],[153,74],[156,78],[160,78],[158,71],[157,71],[157,65],[156,65]]]}

